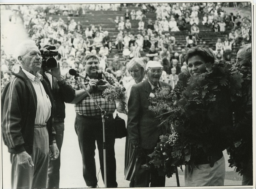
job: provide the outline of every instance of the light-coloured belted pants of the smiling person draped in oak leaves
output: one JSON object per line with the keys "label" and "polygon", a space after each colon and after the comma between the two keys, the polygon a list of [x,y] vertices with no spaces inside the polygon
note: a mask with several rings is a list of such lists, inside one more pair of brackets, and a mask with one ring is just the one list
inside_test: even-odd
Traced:
{"label": "light-coloured belted pants of the smiling person draped in oak leaves", "polygon": [[210,164],[185,167],[185,186],[223,186],[224,179],[224,156],[216,161],[213,167],[210,167]]}

